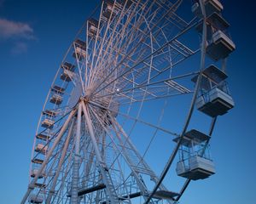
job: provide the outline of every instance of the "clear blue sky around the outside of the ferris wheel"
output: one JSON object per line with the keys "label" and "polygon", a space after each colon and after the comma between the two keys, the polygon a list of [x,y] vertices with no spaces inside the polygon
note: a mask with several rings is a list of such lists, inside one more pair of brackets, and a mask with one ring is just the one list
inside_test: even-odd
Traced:
{"label": "clear blue sky around the outside of the ferris wheel", "polygon": [[[19,203],[26,190],[33,135],[50,83],[98,2],[0,0],[1,204]],[[236,107],[218,119],[212,138],[218,173],[190,184],[181,203],[253,204],[256,200],[256,16],[253,1],[244,2],[224,1],[224,16],[236,42],[228,61]]]}

